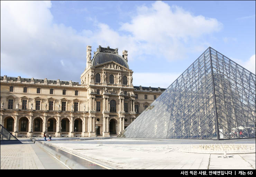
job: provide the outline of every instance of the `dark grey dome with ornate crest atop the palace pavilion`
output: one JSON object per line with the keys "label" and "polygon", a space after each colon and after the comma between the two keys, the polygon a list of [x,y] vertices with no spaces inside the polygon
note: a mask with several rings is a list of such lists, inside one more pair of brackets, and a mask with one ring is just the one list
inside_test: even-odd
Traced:
{"label": "dark grey dome with ornate crest atop the palace pavilion", "polygon": [[111,49],[109,47],[103,48],[101,46],[99,46],[99,48],[97,48],[97,51],[94,52],[91,66],[97,66],[108,61],[115,61],[121,66],[129,69],[127,61],[123,57],[118,55],[118,48]]}

